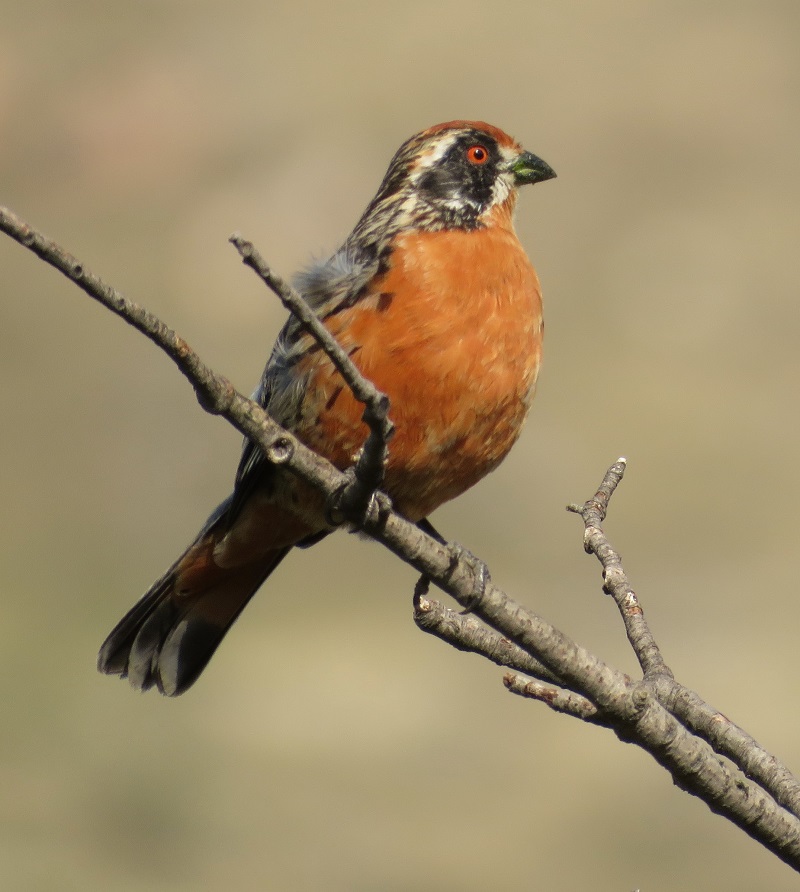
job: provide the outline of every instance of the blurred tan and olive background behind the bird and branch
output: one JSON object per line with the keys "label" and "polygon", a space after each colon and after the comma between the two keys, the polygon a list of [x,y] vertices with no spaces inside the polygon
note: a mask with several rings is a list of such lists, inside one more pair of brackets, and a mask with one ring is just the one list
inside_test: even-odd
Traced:
{"label": "blurred tan and olive background behind the bird and branch", "polygon": [[[558,172],[518,211],[544,370],[434,521],[633,672],[564,511],[626,455],[607,531],[667,661],[798,770],[799,41],[790,0],[0,2],[0,201],[249,392],[285,316],[233,230],[290,274],[412,133],[514,134]],[[639,750],[419,633],[413,572],[354,537],[287,560],[185,697],[98,675],[239,437],[5,238],[0,294],[4,888],[796,888]]]}

